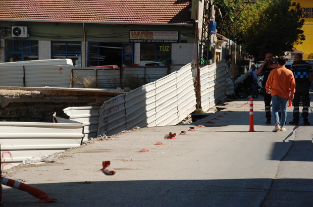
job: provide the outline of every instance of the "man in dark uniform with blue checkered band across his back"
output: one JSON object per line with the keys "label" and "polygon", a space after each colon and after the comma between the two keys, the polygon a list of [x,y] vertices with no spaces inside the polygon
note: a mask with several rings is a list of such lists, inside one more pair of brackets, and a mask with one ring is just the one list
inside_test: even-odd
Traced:
{"label": "man in dark uniform with blue checkered band across his back", "polygon": [[308,107],[310,106],[309,83],[313,80],[312,67],[309,63],[302,60],[302,54],[297,53],[294,56],[294,63],[291,65],[291,70],[296,81],[296,92],[294,93],[293,105],[293,120],[289,124],[297,125],[300,117],[299,103],[302,97],[303,109],[303,125],[309,125],[308,122]]}

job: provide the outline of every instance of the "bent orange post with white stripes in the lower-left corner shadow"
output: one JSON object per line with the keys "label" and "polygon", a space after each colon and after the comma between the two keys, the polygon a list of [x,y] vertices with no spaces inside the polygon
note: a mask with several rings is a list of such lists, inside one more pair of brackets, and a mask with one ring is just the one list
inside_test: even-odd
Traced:
{"label": "bent orange post with white stripes in the lower-left corner shadow", "polygon": [[1,184],[3,185],[7,185],[10,186],[12,188],[16,188],[19,190],[23,190],[28,192],[29,194],[35,196],[36,198],[39,198],[40,200],[38,200],[37,202],[52,202],[54,201],[56,198],[54,197],[49,197],[45,192],[43,192],[42,190],[39,190],[38,188],[32,187],[30,185],[27,185],[25,183],[21,183],[19,181],[16,180],[12,180],[6,177],[1,177],[2,182]]}

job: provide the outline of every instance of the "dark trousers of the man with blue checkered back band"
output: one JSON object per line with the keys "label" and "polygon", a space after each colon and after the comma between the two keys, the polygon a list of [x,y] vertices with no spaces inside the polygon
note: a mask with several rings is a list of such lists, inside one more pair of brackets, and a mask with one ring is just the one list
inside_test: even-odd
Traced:
{"label": "dark trousers of the man with blue checkered back band", "polygon": [[292,100],[293,105],[293,121],[298,122],[300,118],[299,103],[302,96],[302,117],[303,121],[307,122],[308,119],[308,106],[310,105],[309,89],[307,84],[296,83],[296,92]]}

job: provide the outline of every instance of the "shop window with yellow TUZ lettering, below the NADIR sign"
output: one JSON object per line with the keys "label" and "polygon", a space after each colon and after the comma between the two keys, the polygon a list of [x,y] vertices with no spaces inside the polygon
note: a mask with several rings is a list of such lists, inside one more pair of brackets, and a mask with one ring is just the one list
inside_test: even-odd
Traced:
{"label": "shop window with yellow TUZ lettering, below the NADIR sign", "polygon": [[156,61],[163,63],[163,65],[169,65],[172,62],[171,59],[172,44],[140,44],[140,61]]}

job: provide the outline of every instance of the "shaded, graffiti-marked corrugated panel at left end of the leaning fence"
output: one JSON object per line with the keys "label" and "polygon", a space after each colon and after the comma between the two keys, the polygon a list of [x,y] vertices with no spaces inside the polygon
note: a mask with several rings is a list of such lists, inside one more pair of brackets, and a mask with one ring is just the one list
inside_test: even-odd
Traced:
{"label": "shaded, graffiti-marked corrugated panel at left end of the leaning fence", "polygon": [[125,94],[103,103],[99,109],[98,135],[107,136],[126,130]]}

